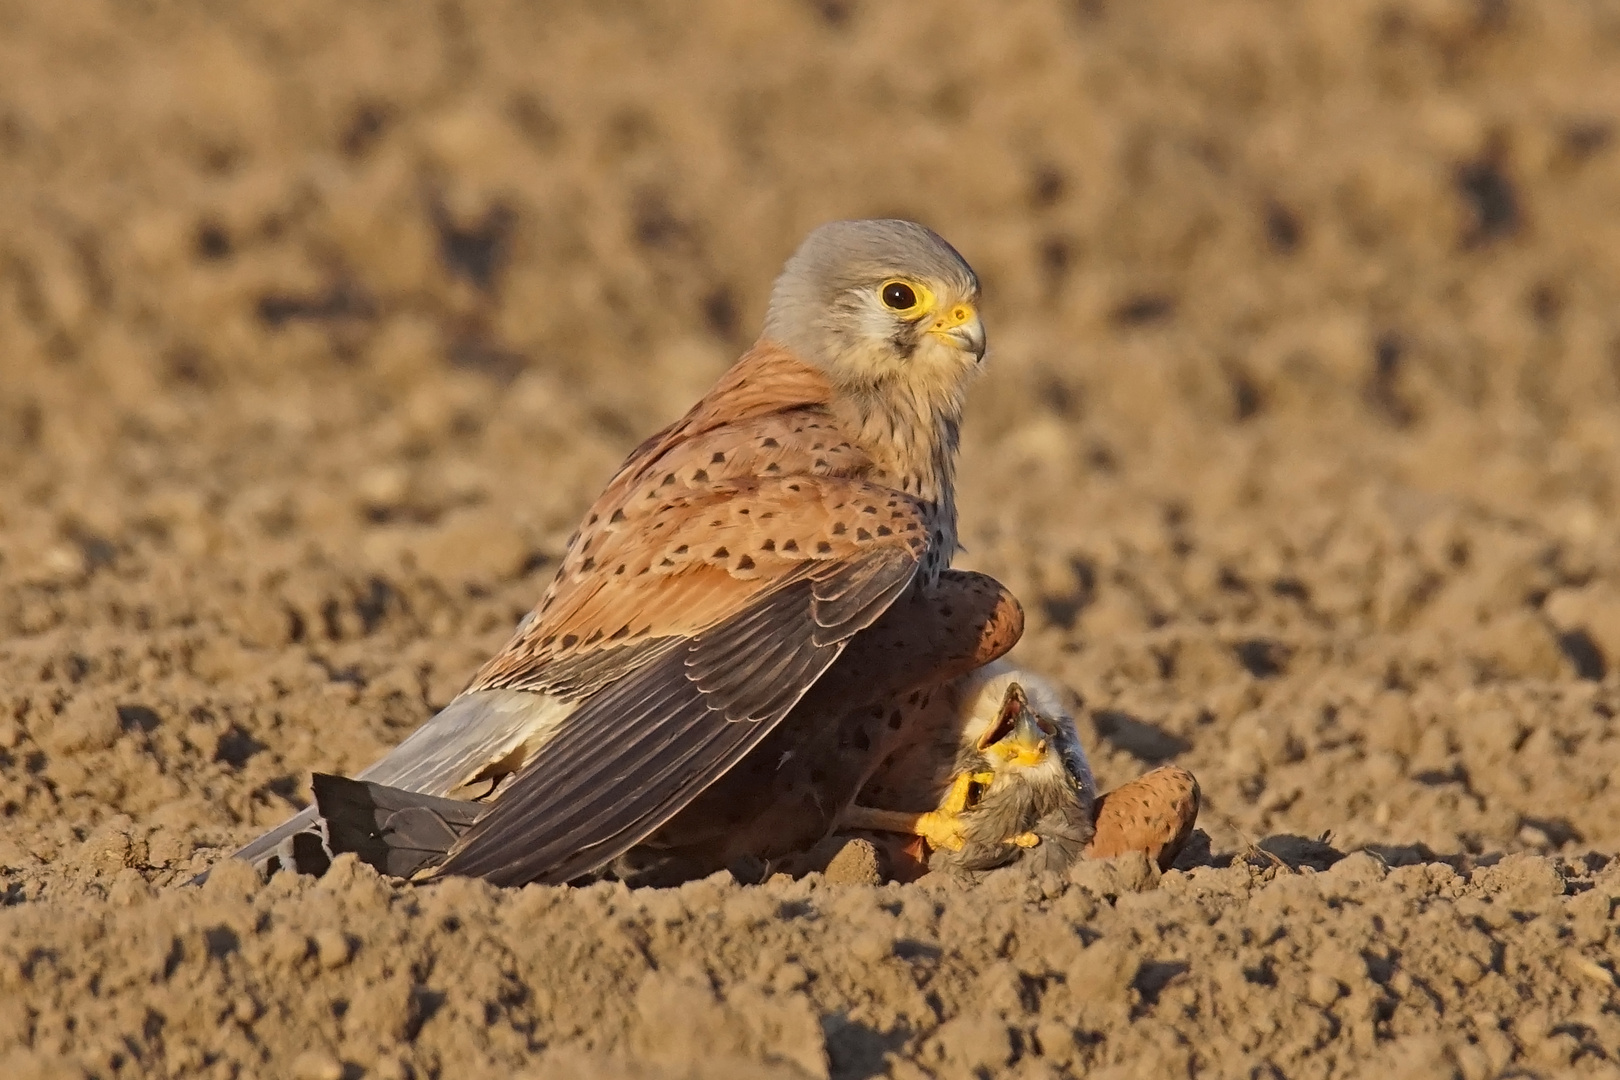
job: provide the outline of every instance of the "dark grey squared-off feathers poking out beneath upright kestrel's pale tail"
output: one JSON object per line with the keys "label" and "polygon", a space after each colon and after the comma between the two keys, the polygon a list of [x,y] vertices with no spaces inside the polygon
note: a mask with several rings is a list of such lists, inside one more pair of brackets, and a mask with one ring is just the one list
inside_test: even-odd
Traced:
{"label": "dark grey squared-off feathers poking out beneath upright kestrel's pale tail", "polygon": [[392,878],[437,866],[488,810],[481,803],[326,772],[314,774],[314,808],[326,826],[326,848],[332,857],[353,852],[360,861]]}

